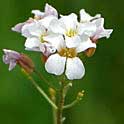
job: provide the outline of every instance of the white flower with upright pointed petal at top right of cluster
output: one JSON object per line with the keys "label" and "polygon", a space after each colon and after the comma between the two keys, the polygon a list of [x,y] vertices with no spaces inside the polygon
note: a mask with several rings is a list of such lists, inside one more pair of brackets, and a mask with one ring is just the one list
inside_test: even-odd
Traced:
{"label": "white flower with upright pointed petal at top right of cluster", "polygon": [[97,14],[93,17],[93,16],[90,16],[84,9],[80,10],[80,22],[81,23],[89,22],[89,21],[98,19],[100,17],[101,17],[100,14]]}

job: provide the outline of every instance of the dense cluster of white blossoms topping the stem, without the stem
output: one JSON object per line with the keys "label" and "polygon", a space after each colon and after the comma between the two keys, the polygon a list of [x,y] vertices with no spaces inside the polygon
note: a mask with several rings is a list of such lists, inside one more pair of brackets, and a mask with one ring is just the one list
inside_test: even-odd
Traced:
{"label": "dense cluster of white blossoms topping the stem, without the stem", "polygon": [[96,48],[99,38],[109,38],[112,29],[104,29],[104,18],[100,14],[92,17],[80,10],[80,20],[75,13],[58,15],[46,4],[45,11],[33,10],[34,18],[12,28],[26,37],[25,49],[42,52],[47,57],[45,69],[48,73],[62,75],[69,80],[81,79],[85,68],[78,53]]}

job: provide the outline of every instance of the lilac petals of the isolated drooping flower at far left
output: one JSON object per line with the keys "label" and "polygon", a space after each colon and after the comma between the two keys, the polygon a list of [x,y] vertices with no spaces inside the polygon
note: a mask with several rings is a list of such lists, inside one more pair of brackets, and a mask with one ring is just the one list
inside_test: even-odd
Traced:
{"label": "lilac petals of the isolated drooping flower at far left", "polygon": [[9,64],[9,71],[11,71],[16,66],[17,60],[20,59],[21,55],[13,50],[3,49],[3,51],[3,62]]}

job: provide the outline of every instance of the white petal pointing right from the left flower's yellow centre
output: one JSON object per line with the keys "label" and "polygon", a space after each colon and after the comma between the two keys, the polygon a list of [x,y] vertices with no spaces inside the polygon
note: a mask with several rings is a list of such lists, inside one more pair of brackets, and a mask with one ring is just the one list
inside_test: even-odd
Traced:
{"label": "white petal pointing right from the left flower's yellow centre", "polygon": [[50,34],[43,37],[44,41],[49,42],[53,47],[59,50],[61,47],[65,47],[64,38],[62,35]]}

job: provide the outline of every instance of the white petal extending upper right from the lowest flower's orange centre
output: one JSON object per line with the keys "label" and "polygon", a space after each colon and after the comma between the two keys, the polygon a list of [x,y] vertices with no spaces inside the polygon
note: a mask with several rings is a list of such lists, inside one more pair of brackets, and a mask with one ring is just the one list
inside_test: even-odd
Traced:
{"label": "white petal extending upper right from the lowest flower's orange centre", "polygon": [[88,39],[84,39],[79,46],[76,48],[77,53],[87,50],[88,48],[96,48],[96,44],[92,43],[92,41]]}

